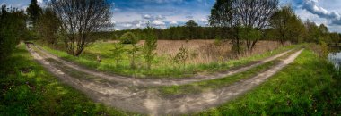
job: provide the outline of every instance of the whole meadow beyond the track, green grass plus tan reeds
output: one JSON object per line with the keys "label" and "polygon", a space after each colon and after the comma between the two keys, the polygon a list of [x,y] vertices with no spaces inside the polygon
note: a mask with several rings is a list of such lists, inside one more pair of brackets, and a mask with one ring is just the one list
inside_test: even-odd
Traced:
{"label": "whole meadow beyond the track, green grass plus tan reeds", "polygon": [[[234,55],[231,52],[231,45],[228,41],[217,45],[214,40],[159,40],[156,49],[157,57],[152,65],[152,70],[146,70],[144,59],[141,55],[136,60],[137,68],[130,68],[129,55],[124,55],[123,60],[118,64],[112,58],[112,50],[117,41],[96,42],[84,50],[79,57],[66,54],[62,51],[42,46],[48,52],[55,54],[67,61],[76,62],[85,67],[113,72],[119,75],[132,76],[138,78],[183,78],[190,77],[197,73],[212,73],[221,70],[228,70],[232,67],[240,67],[250,62],[257,62],[268,56],[279,54],[294,46],[280,46],[274,41],[261,41],[252,54]],[[140,46],[144,41],[139,43]],[[186,67],[172,61],[172,57],[179,53],[179,47],[188,48],[188,60]],[[127,45],[126,48],[131,46]],[[101,57],[98,63],[97,56]]]}

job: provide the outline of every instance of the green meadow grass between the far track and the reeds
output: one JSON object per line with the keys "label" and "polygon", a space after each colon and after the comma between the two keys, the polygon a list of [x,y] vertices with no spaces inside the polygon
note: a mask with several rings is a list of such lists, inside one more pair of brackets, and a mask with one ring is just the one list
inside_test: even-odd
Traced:
{"label": "green meadow grass between the far track and the reeds", "polygon": [[[255,62],[269,56],[279,54],[286,50],[295,48],[297,46],[284,46],[276,49],[272,52],[267,52],[265,54],[256,54],[249,57],[240,58],[238,60],[230,60],[228,62],[211,62],[208,64],[187,64],[186,68],[179,68],[178,64],[170,62],[167,56],[156,57],[155,62],[153,62],[152,70],[146,70],[144,67],[144,60],[142,57],[138,58],[136,62],[139,62],[136,69],[131,69],[129,67],[129,60],[127,56],[124,56],[118,65],[115,64],[115,60],[112,59],[110,49],[113,48],[113,44],[105,42],[96,42],[92,46],[87,47],[83,54],[79,57],[74,57],[73,55],[66,54],[66,52],[51,49],[48,46],[41,46],[49,53],[55,54],[58,57],[65,59],[66,61],[76,62],[84,67],[88,67],[95,70],[101,70],[111,73],[116,73],[124,76],[131,76],[137,78],[149,78],[149,79],[160,79],[160,78],[187,78],[193,76],[197,72],[213,73],[216,71],[228,70],[233,67],[240,67],[247,65],[250,62]],[[129,46],[126,46],[129,47]],[[101,55],[102,62],[96,62],[96,56]]]}

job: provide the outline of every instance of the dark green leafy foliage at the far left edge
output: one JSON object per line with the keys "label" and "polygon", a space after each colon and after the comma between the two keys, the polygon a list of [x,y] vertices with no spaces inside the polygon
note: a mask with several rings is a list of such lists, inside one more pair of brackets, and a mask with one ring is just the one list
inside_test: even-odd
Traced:
{"label": "dark green leafy foliage at the far left edge", "polygon": [[9,57],[19,41],[26,37],[25,19],[23,11],[6,8],[5,5],[2,5],[0,12],[0,62]]}

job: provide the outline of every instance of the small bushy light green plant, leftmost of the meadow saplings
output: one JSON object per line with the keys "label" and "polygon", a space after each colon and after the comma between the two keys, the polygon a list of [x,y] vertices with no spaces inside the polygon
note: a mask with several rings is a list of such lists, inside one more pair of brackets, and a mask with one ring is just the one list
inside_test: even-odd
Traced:
{"label": "small bushy light green plant, leftmost of the meadow saplings", "polygon": [[123,54],[125,54],[126,49],[124,49],[124,45],[121,43],[115,43],[114,49],[110,50],[112,52],[112,57],[116,61],[116,65],[118,65],[118,62],[123,59]]}

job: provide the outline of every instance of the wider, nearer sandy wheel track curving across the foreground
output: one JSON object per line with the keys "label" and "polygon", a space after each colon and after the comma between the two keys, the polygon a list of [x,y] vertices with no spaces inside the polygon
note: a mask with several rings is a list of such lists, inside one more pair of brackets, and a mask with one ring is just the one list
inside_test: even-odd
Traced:
{"label": "wider, nearer sandy wheel track curving across the foreground", "polygon": [[204,92],[197,95],[186,95],[175,99],[162,98],[157,92],[150,89],[131,90],[128,87],[119,84],[99,83],[89,80],[77,79],[68,76],[61,70],[54,67],[54,64],[47,62],[46,58],[40,56],[27,46],[32,56],[51,71],[62,81],[75,87],[94,101],[103,104],[109,104],[119,109],[129,112],[139,112],[151,115],[165,114],[184,114],[189,112],[200,112],[207,108],[218,106],[238,95],[243,95],[250,89],[257,87],[266,79],[275,75],[286,65],[293,62],[294,59],[302,53],[302,50],[290,55],[284,61],[278,63],[273,68],[259,73],[250,79],[240,80],[228,87],[222,87],[210,92]]}

